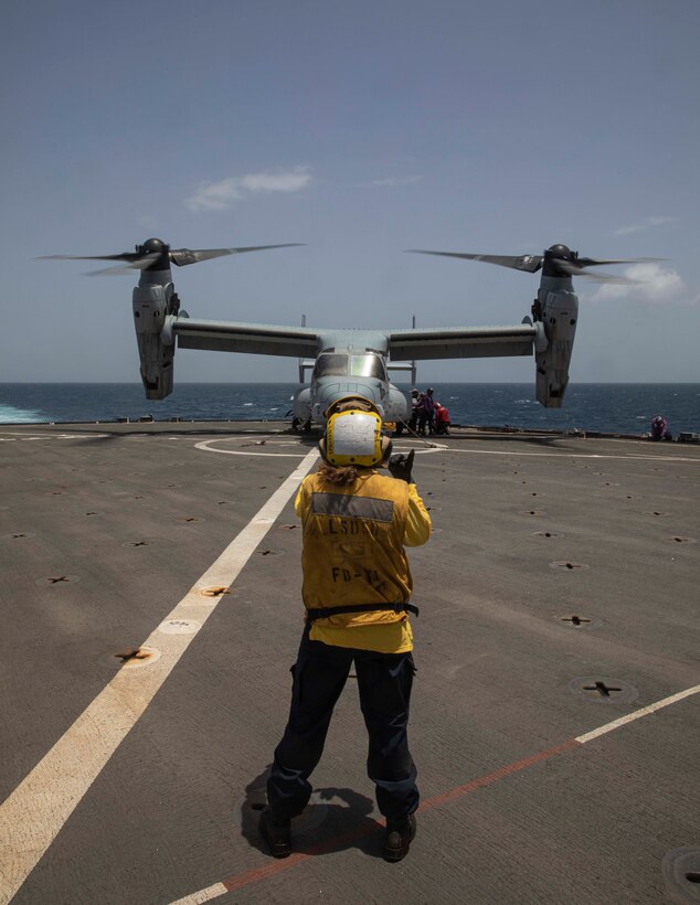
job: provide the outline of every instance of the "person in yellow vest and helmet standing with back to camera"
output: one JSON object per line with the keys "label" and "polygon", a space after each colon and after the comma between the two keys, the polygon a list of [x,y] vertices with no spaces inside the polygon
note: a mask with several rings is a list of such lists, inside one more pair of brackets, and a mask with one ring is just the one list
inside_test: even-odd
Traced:
{"label": "person in yellow vest and helmet standing with back to camera", "polygon": [[[415,835],[420,796],[407,743],[415,666],[413,581],[405,546],[426,543],[431,518],[413,483],[414,453],[391,457],[375,406],[341,400],[327,413],[322,462],[299,488],[306,624],[291,707],[267,781],[261,834],[275,858],[291,852],[290,820],[311,795],[333,707],[354,662],[369,734],[368,774],[386,819],[384,858],[401,861]],[[376,468],[388,465],[392,477]]]}

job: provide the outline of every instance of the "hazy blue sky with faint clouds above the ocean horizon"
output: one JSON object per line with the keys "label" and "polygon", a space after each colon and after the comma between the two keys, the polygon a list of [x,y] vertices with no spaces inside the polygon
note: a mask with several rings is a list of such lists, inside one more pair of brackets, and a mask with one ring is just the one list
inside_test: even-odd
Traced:
{"label": "hazy blue sky with faint clouds above the ocean horizon", "polygon": [[[571,379],[700,380],[697,0],[7,0],[2,20],[0,381],[138,381],[136,280],[33,257],[151,235],[307,243],[174,281],[192,317],[324,327],[529,312],[537,275],[406,248],[668,258],[638,287],[576,283]],[[176,383],[296,371],[176,355]]]}

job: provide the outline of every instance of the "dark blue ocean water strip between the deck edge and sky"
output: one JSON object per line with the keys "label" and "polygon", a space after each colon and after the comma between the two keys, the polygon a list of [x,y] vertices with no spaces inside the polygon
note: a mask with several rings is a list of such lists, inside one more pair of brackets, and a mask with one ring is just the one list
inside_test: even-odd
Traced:
{"label": "dark blue ocean water strip between the deck edge and sky", "polygon": [[[543,408],[527,383],[435,383],[435,398],[454,424],[539,429],[648,432],[666,416],[669,429],[700,434],[700,384],[583,383],[570,385],[561,409]],[[294,383],[181,383],[161,402],[140,383],[3,383],[0,423],[156,420],[284,420]],[[410,386],[401,385],[406,394]],[[420,387],[424,388],[424,387]]]}

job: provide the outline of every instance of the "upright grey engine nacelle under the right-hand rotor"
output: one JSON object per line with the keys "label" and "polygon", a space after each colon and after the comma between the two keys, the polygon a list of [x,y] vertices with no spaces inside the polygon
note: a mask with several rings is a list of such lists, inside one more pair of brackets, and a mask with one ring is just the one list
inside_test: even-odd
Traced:
{"label": "upright grey engine nacelle under the right-hand rotor", "polygon": [[547,408],[561,408],[579,320],[579,297],[571,279],[542,277],[533,311],[541,327],[541,339],[534,347],[538,402]]}

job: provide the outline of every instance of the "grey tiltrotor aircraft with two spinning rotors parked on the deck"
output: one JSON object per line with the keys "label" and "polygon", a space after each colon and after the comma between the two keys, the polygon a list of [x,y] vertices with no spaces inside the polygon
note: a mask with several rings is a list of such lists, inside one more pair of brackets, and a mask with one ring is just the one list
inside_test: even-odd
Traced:
{"label": "grey tiltrotor aircraft with two spinning rotors parked on the deck", "polygon": [[311,381],[294,397],[294,423],[310,427],[324,423],[328,406],[344,396],[360,395],[379,407],[385,422],[401,424],[409,416],[404,394],[388,376],[391,371],[411,372],[416,361],[498,355],[532,355],[535,360],[537,398],[548,408],[560,408],[569,383],[579,299],[572,277],[598,281],[632,283],[624,277],[586,272],[603,264],[625,264],[656,258],[595,260],[579,257],[565,245],[552,245],[542,255],[477,255],[457,252],[418,254],[484,260],[534,274],[542,270],[531,317],[512,327],[433,327],[404,330],[314,329],[236,321],[195,320],[180,308],[171,265],[209,260],[224,255],[285,248],[298,245],[258,245],[242,248],[173,251],[159,238],[117,255],[51,255],[51,259],[118,260],[100,274],[140,270],[134,289],[134,323],[141,360],[146,397],[162,400],[172,392],[176,343],[180,349],[289,355],[299,359],[299,382],[311,371]]}

